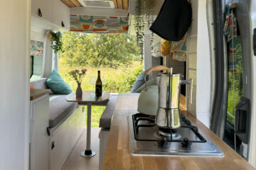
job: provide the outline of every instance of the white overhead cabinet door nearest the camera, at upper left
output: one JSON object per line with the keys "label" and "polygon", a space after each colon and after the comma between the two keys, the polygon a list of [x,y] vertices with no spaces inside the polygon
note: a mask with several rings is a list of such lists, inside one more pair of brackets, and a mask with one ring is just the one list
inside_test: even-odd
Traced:
{"label": "white overhead cabinet door nearest the camera, at upper left", "polygon": [[53,22],[53,0],[31,0],[31,12],[47,21]]}

